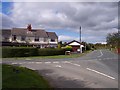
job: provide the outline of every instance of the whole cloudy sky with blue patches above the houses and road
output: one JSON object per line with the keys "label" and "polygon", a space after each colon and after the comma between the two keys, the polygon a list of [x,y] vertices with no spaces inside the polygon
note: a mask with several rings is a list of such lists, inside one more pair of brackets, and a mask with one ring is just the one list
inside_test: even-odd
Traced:
{"label": "whole cloudy sky with blue patches above the houses and road", "polygon": [[117,2],[2,2],[2,28],[43,28],[56,32],[59,41],[104,43],[118,32]]}

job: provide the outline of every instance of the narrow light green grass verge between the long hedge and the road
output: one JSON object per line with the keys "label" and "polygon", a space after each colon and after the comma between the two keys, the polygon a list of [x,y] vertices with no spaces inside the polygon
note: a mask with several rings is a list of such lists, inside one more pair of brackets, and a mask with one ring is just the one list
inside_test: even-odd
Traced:
{"label": "narrow light green grass verge between the long hedge and the road", "polygon": [[83,55],[86,55],[87,53],[89,53],[91,51],[86,51],[84,53],[81,54],[71,54],[71,55],[56,55],[56,56],[32,56],[32,57],[14,57],[15,60],[21,60],[21,59],[64,59],[64,58],[79,58]]}

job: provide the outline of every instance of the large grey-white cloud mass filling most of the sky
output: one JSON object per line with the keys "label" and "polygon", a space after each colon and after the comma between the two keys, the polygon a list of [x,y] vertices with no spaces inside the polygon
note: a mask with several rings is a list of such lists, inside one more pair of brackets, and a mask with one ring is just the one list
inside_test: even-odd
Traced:
{"label": "large grey-white cloud mass filling most of the sky", "polygon": [[4,26],[8,27],[8,23],[12,23],[10,18],[17,23],[16,27],[31,23],[36,28],[43,26],[78,32],[81,25],[84,34],[95,35],[94,38],[97,38],[96,34],[105,37],[117,28],[117,5],[117,2],[15,3],[12,15],[4,18]]}

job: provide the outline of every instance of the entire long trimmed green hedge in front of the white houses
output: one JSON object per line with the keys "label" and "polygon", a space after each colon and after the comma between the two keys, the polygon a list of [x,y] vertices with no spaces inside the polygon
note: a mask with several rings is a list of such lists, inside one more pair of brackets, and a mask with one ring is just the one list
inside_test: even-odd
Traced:
{"label": "entire long trimmed green hedge in front of the white houses", "polygon": [[28,57],[28,56],[53,56],[64,55],[65,49],[33,48],[33,47],[2,47],[2,57]]}

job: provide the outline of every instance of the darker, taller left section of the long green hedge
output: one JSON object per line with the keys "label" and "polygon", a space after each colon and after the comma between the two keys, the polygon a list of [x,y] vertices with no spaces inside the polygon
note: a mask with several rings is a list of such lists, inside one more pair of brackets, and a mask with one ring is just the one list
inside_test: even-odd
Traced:
{"label": "darker, taller left section of the long green hedge", "polygon": [[27,57],[27,56],[37,56],[37,48],[32,47],[3,47],[2,57]]}

